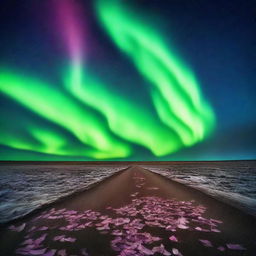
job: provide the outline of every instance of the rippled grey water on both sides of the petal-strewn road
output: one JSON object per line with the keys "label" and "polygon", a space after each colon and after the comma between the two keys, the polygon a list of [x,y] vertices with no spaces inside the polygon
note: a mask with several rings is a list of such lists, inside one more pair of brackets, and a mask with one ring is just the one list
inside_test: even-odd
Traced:
{"label": "rippled grey water on both sides of the petal-strewn road", "polygon": [[[0,223],[86,189],[128,166],[0,165]],[[142,165],[256,216],[256,162]]]}

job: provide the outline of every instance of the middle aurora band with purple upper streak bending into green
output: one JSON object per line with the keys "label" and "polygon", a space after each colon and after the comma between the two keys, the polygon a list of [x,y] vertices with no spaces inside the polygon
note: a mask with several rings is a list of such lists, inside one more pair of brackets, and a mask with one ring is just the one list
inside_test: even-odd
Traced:
{"label": "middle aurora band with purple upper streak bending into green", "polygon": [[[58,2],[61,34],[68,47],[71,60],[70,72],[65,71],[66,88],[86,105],[101,112],[110,130],[119,137],[144,146],[157,156],[166,155],[182,147],[175,132],[168,129],[139,104],[107,90],[107,87],[83,70],[83,27],[79,10],[74,2]],[[72,40],[72,38],[74,38]],[[86,61],[86,60],[85,60]],[[166,143],[172,141],[172,143]]]}

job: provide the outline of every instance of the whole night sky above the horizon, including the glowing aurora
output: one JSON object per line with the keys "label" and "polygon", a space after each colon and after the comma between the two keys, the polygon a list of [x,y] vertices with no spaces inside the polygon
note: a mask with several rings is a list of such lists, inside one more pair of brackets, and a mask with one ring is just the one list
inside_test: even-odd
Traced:
{"label": "whole night sky above the horizon, including the glowing aurora", "polygon": [[0,160],[255,159],[255,10],[1,1]]}

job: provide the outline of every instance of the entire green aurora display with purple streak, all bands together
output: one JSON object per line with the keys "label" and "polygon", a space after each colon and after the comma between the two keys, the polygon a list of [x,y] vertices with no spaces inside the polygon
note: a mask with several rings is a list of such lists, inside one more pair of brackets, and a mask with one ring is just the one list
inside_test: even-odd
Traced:
{"label": "entire green aurora display with purple streak, all bands together", "polygon": [[110,91],[104,77],[88,66],[81,47],[86,44],[83,26],[76,21],[72,1],[69,4],[65,15],[70,24],[63,22],[63,30],[73,30],[61,40],[71,36],[76,40],[67,44],[69,61],[65,72],[59,72],[61,86],[12,67],[0,69],[0,93],[54,125],[42,126],[28,118],[19,124],[18,133],[1,126],[1,145],[50,156],[122,160],[136,155],[137,146],[157,157],[169,155],[203,141],[213,131],[215,115],[199,82],[157,28],[119,1],[95,1],[102,33],[147,83],[152,115],[143,103]]}

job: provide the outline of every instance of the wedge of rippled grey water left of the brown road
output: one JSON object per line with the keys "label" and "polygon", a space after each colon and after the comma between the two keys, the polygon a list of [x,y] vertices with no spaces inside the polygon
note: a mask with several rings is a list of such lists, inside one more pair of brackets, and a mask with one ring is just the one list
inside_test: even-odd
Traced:
{"label": "wedge of rippled grey water left of the brown road", "polygon": [[83,190],[124,169],[82,165],[1,165],[0,223]]}

